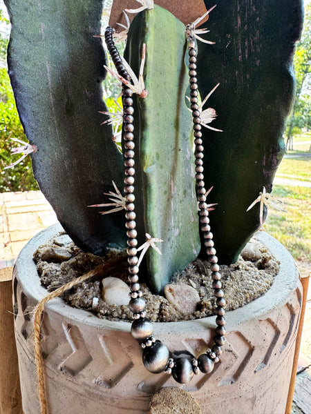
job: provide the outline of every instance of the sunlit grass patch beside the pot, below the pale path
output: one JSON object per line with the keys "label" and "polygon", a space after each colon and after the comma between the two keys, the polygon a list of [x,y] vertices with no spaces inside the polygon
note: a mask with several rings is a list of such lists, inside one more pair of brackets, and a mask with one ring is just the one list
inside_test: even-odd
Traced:
{"label": "sunlit grass patch beside the pot, below the pale path", "polygon": [[269,209],[265,230],[279,240],[302,266],[311,266],[311,188],[274,185],[272,194],[286,213]]}

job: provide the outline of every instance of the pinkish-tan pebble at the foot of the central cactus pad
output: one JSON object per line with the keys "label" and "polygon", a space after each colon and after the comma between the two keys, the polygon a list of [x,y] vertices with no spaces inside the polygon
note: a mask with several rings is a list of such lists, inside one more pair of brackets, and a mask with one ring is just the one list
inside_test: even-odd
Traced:
{"label": "pinkish-tan pebble at the foot of the central cactus pad", "polygon": [[194,313],[198,302],[200,302],[200,296],[196,289],[186,284],[167,284],[164,287],[164,295],[174,308],[184,314]]}

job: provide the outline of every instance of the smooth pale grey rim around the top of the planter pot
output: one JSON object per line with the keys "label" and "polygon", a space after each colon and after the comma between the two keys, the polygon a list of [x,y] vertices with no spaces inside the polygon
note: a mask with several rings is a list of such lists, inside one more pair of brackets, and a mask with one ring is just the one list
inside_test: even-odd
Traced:
{"label": "smooth pale grey rim around the top of the planter pot", "polygon": [[[19,283],[23,286],[23,292],[35,302],[39,302],[39,300],[45,297],[47,295],[47,290],[40,284],[37,267],[32,259],[33,253],[39,246],[48,242],[53,235],[56,235],[62,230],[63,228],[59,223],[42,230],[30,239],[17,257],[15,263],[15,275],[17,275]],[[249,318],[264,319],[265,314],[269,313],[277,306],[284,304],[290,292],[296,288],[299,272],[294,263],[294,259],[288,250],[280,242],[274,239],[274,237],[268,235],[264,231],[258,231],[254,235],[254,238],[265,244],[270,250],[270,253],[279,260],[280,270],[274,279],[274,283],[264,295],[241,308],[226,313],[227,328],[233,328],[236,324],[241,324],[249,320]],[[18,271],[16,270],[17,268]],[[46,304],[46,309],[57,312],[64,317],[75,319],[77,322],[96,326],[97,328],[106,328],[111,331],[122,332],[129,332],[131,329],[131,322],[114,322],[100,319],[91,312],[67,305],[59,297],[50,300],[50,302]],[[180,322],[156,322],[153,326],[154,333],[168,330],[193,331],[194,329],[203,332],[207,328],[214,328],[215,317],[210,316],[202,319]]]}

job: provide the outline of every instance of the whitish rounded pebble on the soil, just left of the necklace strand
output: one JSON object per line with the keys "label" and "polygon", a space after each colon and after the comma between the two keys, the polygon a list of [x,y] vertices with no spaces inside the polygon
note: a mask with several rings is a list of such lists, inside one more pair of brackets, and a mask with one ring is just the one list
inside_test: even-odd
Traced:
{"label": "whitish rounded pebble on the soil, just left of the necklace strand", "polygon": [[129,304],[129,286],[118,277],[102,279],[102,298],[108,305]]}

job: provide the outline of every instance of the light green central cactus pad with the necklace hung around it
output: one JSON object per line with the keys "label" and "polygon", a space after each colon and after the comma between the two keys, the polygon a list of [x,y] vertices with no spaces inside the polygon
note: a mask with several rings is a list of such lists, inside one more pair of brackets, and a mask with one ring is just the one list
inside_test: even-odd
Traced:
{"label": "light green central cactus pad with the necklace hung around it", "polygon": [[191,150],[191,112],[185,103],[189,77],[185,66],[185,26],[167,10],[154,6],[131,23],[126,59],[138,74],[146,43],[145,99],[135,104],[135,179],[140,244],[144,233],[163,240],[162,255],[147,251],[148,279],[160,292],[173,273],[200,251],[198,210]]}

